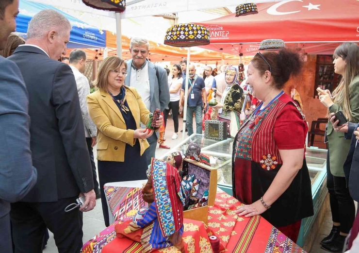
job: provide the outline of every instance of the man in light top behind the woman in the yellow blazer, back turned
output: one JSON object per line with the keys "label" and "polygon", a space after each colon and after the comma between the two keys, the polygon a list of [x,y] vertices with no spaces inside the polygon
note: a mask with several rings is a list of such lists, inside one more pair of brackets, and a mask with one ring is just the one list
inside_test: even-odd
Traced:
{"label": "man in light top behind the woman in the yellow blazer, back turned", "polygon": [[[64,57],[63,57],[64,58]],[[82,112],[83,127],[85,129],[86,143],[88,152],[90,153],[92,176],[94,179],[94,190],[96,193],[96,199],[101,198],[100,189],[98,187],[96,164],[94,161],[93,147],[96,145],[97,128],[87,110],[86,96],[90,94],[90,84],[87,77],[83,75],[86,69],[86,52],[82,49],[74,49],[70,52],[69,66],[74,73],[77,92],[79,93],[80,107]],[[62,61],[63,62],[63,61]]]}

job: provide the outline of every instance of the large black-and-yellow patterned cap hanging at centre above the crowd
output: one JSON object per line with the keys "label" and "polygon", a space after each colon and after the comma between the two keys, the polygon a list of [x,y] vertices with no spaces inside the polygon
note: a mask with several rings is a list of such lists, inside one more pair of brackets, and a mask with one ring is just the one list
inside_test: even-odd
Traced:
{"label": "large black-and-yellow patterned cap hanging at centre above the crowd", "polygon": [[167,29],[164,44],[188,48],[210,44],[210,31],[203,25],[177,24]]}

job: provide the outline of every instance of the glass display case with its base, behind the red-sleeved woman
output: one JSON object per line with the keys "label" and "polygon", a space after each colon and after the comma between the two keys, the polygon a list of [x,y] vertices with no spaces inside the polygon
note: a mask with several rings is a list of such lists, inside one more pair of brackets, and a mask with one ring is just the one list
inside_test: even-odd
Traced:
{"label": "glass display case with its base, behind the red-sleeved woman", "polygon": [[[193,134],[179,143],[176,147],[163,155],[166,158],[171,152],[181,152],[184,154],[190,143],[197,143],[201,147],[201,152],[210,157],[211,166],[217,169],[218,187],[232,195],[232,150],[234,139],[211,140],[204,138],[203,135]],[[314,206],[314,215],[302,220],[301,229],[297,244],[303,246],[306,238],[310,237],[311,228],[323,209],[323,203],[327,195],[326,189],[326,154],[327,150],[315,147],[307,148],[306,162],[309,169],[311,180],[311,193]],[[326,210],[324,210],[325,213]]]}

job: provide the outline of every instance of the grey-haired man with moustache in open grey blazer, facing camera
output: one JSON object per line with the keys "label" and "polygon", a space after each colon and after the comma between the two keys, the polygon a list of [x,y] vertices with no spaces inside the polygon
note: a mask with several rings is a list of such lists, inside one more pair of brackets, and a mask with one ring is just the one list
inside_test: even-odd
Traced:
{"label": "grey-haired man with moustache in open grey blazer, facing camera", "polygon": [[[166,70],[154,65],[147,59],[149,53],[149,43],[144,38],[132,38],[130,42],[130,52],[132,60],[127,61],[127,72],[129,73],[125,79],[127,86],[135,87],[141,95],[150,112],[154,112],[156,108],[164,108],[169,103],[169,88]],[[145,128],[141,124],[142,128]],[[156,156],[156,146],[159,133],[151,135],[147,138],[149,143],[148,149],[145,151],[147,164],[151,163],[151,158]]]}

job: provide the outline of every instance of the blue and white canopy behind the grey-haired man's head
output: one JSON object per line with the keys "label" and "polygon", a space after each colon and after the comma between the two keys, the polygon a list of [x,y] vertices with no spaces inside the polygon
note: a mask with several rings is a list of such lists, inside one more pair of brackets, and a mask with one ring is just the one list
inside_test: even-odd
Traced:
{"label": "blue and white canopy behind the grey-haired man's head", "polygon": [[63,14],[71,23],[70,42],[67,48],[105,48],[106,32],[90,26],[80,19],[72,17],[59,9],[27,0],[20,0],[19,15],[16,18],[16,32],[27,33],[28,25],[33,16],[45,9],[52,9]]}

